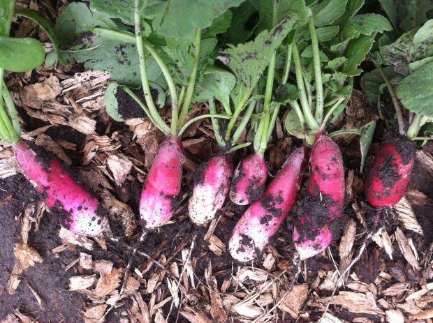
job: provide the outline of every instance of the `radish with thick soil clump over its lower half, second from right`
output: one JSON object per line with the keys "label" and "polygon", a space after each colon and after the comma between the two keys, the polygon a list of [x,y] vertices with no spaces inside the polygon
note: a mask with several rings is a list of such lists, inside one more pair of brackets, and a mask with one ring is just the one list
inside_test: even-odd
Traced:
{"label": "radish with thick soil clump over its lower half, second from right", "polygon": [[324,133],[317,133],[309,163],[310,195],[302,201],[293,229],[301,259],[313,257],[329,246],[344,204],[343,159],[337,144]]}

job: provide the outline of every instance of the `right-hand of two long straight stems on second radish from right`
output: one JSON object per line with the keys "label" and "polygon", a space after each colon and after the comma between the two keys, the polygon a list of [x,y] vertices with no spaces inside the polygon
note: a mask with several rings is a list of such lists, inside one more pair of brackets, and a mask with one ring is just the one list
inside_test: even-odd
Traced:
{"label": "right-hand of two long straight stems on second radish from right", "polygon": [[323,84],[321,57],[318,51],[318,40],[316,29],[314,28],[314,19],[311,17],[308,22],[309,33],[311,35],[311,45],[313,47],[314,78],[316,80],[316,112],[314,117],[318,124],[322,123],[323,118]]}

